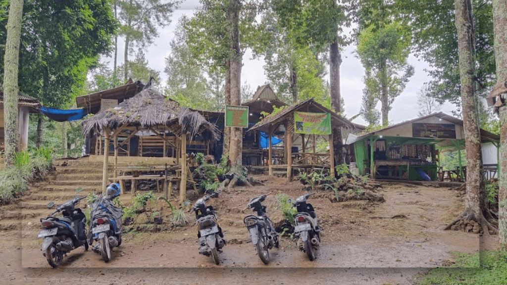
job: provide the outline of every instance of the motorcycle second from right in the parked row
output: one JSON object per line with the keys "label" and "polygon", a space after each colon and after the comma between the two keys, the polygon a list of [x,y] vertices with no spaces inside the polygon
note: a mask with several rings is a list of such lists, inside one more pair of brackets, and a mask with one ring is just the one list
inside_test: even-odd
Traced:
{"label": "motorcycle second from right in the parked row", "polygon": [[266,199],[267,195],[263,194],[259,197],[252,198],[246,207],[253,208],[257,212],[257,216],[248,215],[243,219],[252,244],[255,245],[257,255],[264,264],[269,263],[269,251],[271,248],[278,248],[278,233],[271,225],[271,220],[266,216],[266,206],[261,203]]}

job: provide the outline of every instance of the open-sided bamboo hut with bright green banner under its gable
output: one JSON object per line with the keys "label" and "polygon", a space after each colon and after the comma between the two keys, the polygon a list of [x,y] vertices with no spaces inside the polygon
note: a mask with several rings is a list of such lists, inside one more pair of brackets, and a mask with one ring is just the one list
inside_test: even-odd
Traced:
{"label": "open-sided bamboo hut with bright green banner under its gable", "polygon": [[[295,115],[300,113],[329,114],[330,134],[309,134],[295,129]],[[330,174],[334,175],[334,151],[337,146],[333,145],[333,133],[338,128],[353,128],[347,119],[325,108],[313,99],[307,99],[298,104],[285,107],[276,114],[269,115],[248,131],[263,131],[268,134],[268,164],[269,175],[273,175],[274,168],[286,168],[287,180],[292,181],[293,168],[308,169],[329,168]],[[283,137],[283,147],[276,154],[273,148],[273,136]],[[329,143],[326,152],[317,152],[317,139],[321,138]]]}

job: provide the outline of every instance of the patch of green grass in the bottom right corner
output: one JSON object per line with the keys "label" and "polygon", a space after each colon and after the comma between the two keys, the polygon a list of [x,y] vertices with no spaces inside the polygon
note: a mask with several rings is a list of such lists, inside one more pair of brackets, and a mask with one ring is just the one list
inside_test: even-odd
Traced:
{"label": "patch of green grass in the bottom right corner", "polygon": [[473,255],[454,253],[456,263],[417,276],[418,285],[490,285],[507,284],[507,251],[480,252]]}

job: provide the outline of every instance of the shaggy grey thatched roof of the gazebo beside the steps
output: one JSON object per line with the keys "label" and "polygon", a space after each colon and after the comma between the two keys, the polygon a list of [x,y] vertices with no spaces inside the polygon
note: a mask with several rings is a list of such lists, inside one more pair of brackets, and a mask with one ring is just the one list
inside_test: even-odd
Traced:
{"label": "shaggy grey thatched roof of the gazebo beside the steps", "polygon": [[94,129],[101,132],[106,127],[114,131],[125,124],[139,129],[165,126],[177,135],[188,133],[191,139],[197,134],[202,134],[207,140],[219,138],[216,126],[198,112],[179,106],[176,101],[164,97],[151,87],[126,99],[115,108],[102,110],[85,119],[82,126],[86,135]]}

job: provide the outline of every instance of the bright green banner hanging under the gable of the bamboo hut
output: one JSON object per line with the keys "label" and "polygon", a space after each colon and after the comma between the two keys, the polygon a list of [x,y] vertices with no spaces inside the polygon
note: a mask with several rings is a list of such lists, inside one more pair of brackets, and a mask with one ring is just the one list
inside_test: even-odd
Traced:
{"label": "bright green banner hanging under the gable of the bamboo hut", "polygon": [[331,113],[294,112],[294,130],[305,134],[331,134]]}

